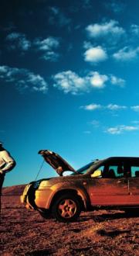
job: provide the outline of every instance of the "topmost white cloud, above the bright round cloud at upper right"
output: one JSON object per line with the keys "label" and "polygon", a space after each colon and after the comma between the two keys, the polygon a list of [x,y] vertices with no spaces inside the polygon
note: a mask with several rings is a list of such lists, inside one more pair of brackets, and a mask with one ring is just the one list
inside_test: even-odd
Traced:
{"label": "topmost white cloud, above the bright round cloud at upper right", "polygon": [[95,23],[86,27],[86,31],[90,37],[97,38],[108,35],[121,36],[125,33],[124,29],[119,26],[119,22],[110,20],[101,24]]}

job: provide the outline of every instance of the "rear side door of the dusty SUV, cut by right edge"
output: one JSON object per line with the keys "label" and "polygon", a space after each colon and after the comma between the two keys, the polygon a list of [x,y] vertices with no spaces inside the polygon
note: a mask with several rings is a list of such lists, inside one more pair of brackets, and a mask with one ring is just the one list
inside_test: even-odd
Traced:
{"label": "rear side door of the dusty SUV, cut by right edge", "polygon": [[129,204],[132,206],[139,206],[139,160],[132,159],[127,164],[129,173]]}

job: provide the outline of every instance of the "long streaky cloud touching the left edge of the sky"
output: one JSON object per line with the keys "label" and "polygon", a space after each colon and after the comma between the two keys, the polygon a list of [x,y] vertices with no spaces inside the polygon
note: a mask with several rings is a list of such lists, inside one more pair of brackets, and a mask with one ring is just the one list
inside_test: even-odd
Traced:
{"label": "long streaky cloud touching the left edge of the sky", "polygon": [[39,74],[34,74],[24,68],[0,66],[0,80],[14,83],[15,87],[23,92],[29,90],[46,93],[48,85]]}

